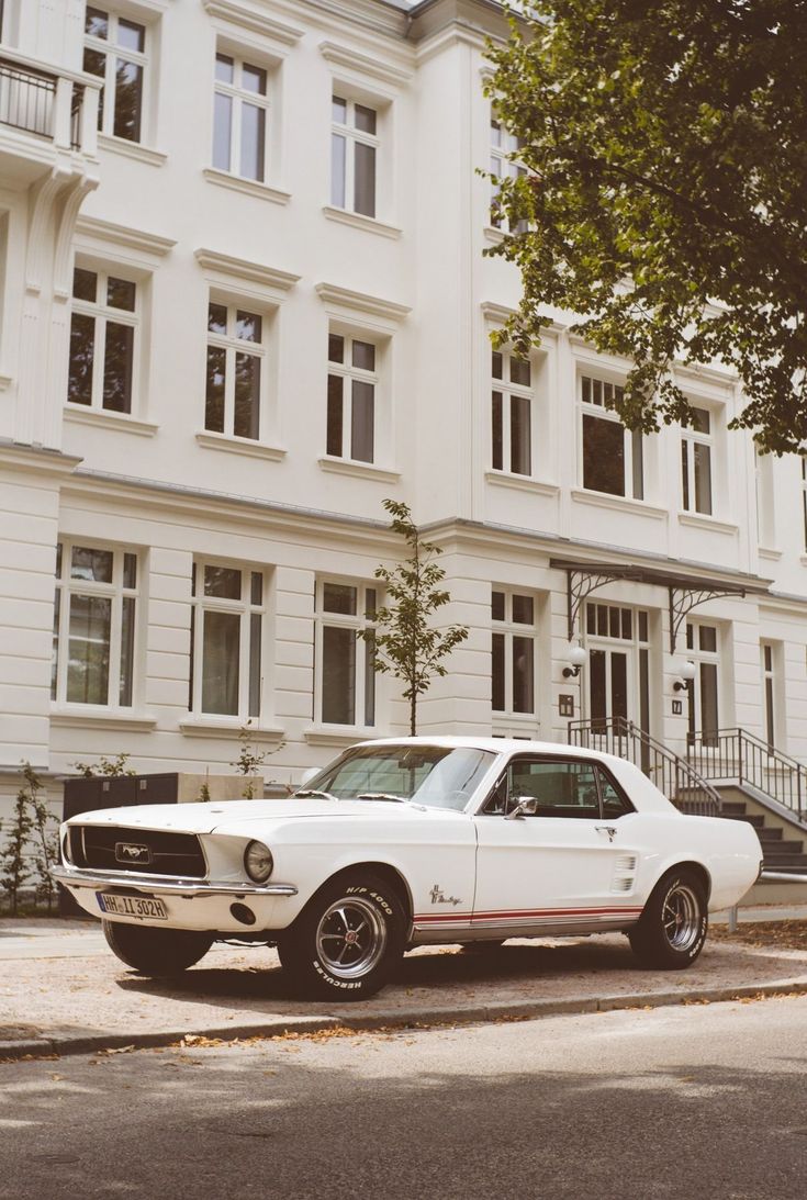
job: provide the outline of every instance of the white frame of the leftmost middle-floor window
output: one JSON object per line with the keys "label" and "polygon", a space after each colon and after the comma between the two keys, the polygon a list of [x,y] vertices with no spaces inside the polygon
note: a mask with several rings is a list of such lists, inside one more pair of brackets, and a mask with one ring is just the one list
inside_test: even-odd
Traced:
{"label": "white frame of the leftmost middle-floor window", "polygon": [[[139,410],[139,383],[141,383],[141,343],[143,340],[143,328],[144,328],[144,296],[145,282],[143,278],[143,272],[139,270],[132,270],[128,266],[121,264],[120,269],[116,263],[103,262],[100,263],[94,259],[89,259],[83,254],[76,256],[76,262],[73,264],[72,275],[72,292],[76,288],[76,271],[88,271],[96,276],[95,294],[96,299],[82,300],[71,293],[71,308],[70,308],[70,331],[68,331],[68,349],[67,349],[67,378],[70,386],[70,372],[72,365],[72,349],[70,342],[72,341],[72,329],[73,329],[73,317],[83,316],[90,317],[94,322],[94,335],[92,335],[92,372],[90,383],[90,403],[83,404],[80,401],[74,401],[70,398],[70,392],[65,397],[65,404],[70,412],[84,412],[84,413],[103,413],[108,416],[127,418],[134,416]],[[133,310],[115,308],[110,306],[108,299],[100,302],[97,296],[108,296],[108,284],[109,280],[120,280],[124,283],[131,283],[134,288],[134,307]],[[107,408],[103,403],[103,376],[106,368],[106,354],[107,354],[107,338],[106,330],[109,322],[119,325],[126,325],[133,330],[132,332],[132,356],[131,356],[131,383],[130,383],[130,402],[128,409]]]}

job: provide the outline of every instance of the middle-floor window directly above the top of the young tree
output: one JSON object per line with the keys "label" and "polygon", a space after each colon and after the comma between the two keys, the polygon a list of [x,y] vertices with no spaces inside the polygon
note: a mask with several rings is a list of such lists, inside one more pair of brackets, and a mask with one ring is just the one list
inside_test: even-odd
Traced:
{"label": "middle-floor window directly above the top of the young tree", "polygon": [[327,452],[375,461],[377,347],[358,337],[328,335]]}

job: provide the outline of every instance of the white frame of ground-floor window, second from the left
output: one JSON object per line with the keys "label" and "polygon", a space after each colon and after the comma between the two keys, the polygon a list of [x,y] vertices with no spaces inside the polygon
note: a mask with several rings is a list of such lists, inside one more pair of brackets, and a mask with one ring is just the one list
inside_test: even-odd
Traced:
{"label": "white frame of ground-floor window, second from the left", "polygon": [[[241,576],[241,598],[234,600],[226,596],[204,594],[205,568],[239,571]],[[261,604],[252,602],[252,578],[262,581]],[[198,594],[198,587],[202,592]],[[265,565],[233,562],[216,556],[195,556],[191,568],[191,644],[189,653],[189,696],[187,712],[191,718],[238,720],[257,722],[264,715],[267,706],[267,616],[269,611],[269,571]],[[207,612],[238,613],[238,712],[214,713],[203,707],[204,700],[204,622]],[[252,618],[259,619],[261,646],[258,650],[257,704],[252,703],[255,677],[252,674]],[[252,712],[257,708],[257,712]]]}

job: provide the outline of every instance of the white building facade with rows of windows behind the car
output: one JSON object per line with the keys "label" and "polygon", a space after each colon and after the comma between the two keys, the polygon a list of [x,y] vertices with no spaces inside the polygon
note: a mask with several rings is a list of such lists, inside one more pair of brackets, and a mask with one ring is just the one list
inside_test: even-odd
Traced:
{"label": "white building facade with rows of windows behind the car", "polygon": [[478,172],[515,169],[496,4],[0,11],[6,797],[20,760],[54,796],[100,755],[227,770],[247,720],[280,784],[406,732],[355,637],[401,553],[385,497],[470,629],[420,732],[623,718],[807,756],[803,460],[728,430],[716,367],[679,372],[695,426],[626,432],[628,364],[569,314],[491,349],[520,288],[483,253]]}

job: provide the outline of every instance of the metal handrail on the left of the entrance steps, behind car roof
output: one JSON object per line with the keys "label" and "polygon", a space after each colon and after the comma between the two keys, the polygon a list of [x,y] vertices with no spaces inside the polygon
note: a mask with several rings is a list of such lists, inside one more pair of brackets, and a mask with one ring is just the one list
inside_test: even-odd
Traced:
{"label": "metal handrail on the left of the entrance steps, behind car roof", "polygon": [[680,755],[657,742],[624,716],[569,721],[569,742],[627,758],[653,780],[676,808],[700,816],[717,816],[721,798],[711,784]]}

